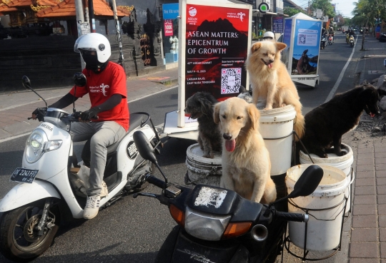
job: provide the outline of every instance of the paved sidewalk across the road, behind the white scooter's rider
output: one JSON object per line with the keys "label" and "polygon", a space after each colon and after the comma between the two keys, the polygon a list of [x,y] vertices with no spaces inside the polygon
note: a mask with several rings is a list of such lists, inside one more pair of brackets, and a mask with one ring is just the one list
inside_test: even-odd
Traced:
{"label": "paved sidewalk across the road, behind the white scooter's rider", "polygon": [[[152,73],[146,76],[127,78],[127,100],[138,100],[144,96],[158,93],[168,88],[177,86],[178,68]],[[20,80],[20,85],[21,80]],[[39,89],[34,87],[34,79],[31,78],[32,88],[43,97],[50,105],[64,96],[71,89],[69,87],[54,89]],[[17,135],[24,135],[31,132],[39,125],[37,120],[28,120],[31,113],[39,107],[44,107],[41,100],[32,91],[19,91],[14,93],[0,93],[0,142],[6,138]],[[90,108],[89,96],[76,100],[76,110],[88,110]],[[64,108],[67,112],[72,112],[72,105]]]}

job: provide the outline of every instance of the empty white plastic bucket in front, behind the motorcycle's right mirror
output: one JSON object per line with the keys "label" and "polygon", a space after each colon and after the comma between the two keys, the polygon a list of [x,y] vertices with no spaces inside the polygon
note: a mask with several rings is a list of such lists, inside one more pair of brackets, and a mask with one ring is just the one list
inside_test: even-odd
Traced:
{"label": "empty white plastic bucket in front, behind the motorcycle's right mirror", "polygon": [[[309,166],[296,165],[287,171],[285,183],[288,192],[292,192],[295,182]],[[338,246],[342,230],[342,212],[346,203],[345,190],[350,183],[342,170],[327,165],[319,166],[322,167],[324,175],[315,192],[307,197],[290,199],[288,202],[288,212],[305,214],[304,210],[309,210],[306,247],[305,223],[289,222],[288,225],[291,242],[297,247],[311,251],[327,251]]]}

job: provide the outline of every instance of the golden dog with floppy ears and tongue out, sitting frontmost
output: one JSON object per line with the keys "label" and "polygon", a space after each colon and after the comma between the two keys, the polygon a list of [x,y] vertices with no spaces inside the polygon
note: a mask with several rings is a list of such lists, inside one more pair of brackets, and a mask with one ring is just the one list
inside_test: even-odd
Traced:
{"label": "golden dog with floppy ears and tongue out, sitting frontmost", "polygon": [[224,138],[220,187],[254,202],[276,200],[271,162],[259,133],[260,113],[256,106],[242,98],[228,98],[214,105],[213,117]]}

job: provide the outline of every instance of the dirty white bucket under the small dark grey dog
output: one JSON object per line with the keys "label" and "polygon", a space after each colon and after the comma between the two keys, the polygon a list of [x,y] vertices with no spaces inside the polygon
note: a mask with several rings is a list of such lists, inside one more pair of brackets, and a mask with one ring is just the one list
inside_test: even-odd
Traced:
{"label": "dirty white bucket under the small dark grey dog", "polygon": [[185,182],[187,184],[203,184],[219,186],[222,175],[222,155],[214,153],[214,158],[202,157],[204,153],[198,143],[187,148],[187,174]]}

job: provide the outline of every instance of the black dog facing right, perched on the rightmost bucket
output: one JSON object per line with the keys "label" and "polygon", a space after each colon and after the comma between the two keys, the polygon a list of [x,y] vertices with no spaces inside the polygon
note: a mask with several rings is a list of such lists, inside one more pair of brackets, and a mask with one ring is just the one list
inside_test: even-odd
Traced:
{"label": "black dog facing right, perched on the rightmost bucket", "polygon": [[[363,110],[371,117],[380,113],[378,100],[384,95],[386,91],[365,81],[362,86],[337,94],[311,110],[305,115],[305,135],[302,137],[305,148],[320,158],[327,158],[327,150],[332,146],[336,155],[345,155],[340,147],[342,135],[357,127]],[[299,143],[297,153],[298,150],[302,150]]]}

